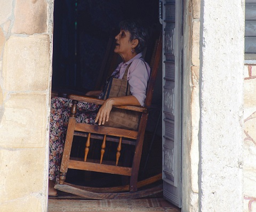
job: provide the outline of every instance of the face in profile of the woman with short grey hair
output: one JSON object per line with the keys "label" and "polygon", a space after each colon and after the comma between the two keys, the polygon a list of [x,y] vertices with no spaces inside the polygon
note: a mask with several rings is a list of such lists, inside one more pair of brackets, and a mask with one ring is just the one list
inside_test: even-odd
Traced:
{"label": "face in profile of the woman with short grey hair", "polygon": [[[114,52],[120,54],[122,58],[126,58],[127,55],[130,55],[133,48],[133,40],[130,40],[130,32],[121,29],[118,35],[116,35],[116,47]],[[134,52],[135,53],[135,52]]]}

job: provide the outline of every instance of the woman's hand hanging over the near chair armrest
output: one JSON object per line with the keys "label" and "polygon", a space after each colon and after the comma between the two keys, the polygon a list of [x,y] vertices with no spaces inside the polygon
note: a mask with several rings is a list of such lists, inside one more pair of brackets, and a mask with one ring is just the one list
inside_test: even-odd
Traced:
{"label": "woman's hand hanging over the near chair armrest", "polygon": [[95,123],[98,121],[98,125],[105,124],[105,121],[108,121],[110,111],[113,107],[113,99],[107,99],[99,109],[97,116],[95,118]]}

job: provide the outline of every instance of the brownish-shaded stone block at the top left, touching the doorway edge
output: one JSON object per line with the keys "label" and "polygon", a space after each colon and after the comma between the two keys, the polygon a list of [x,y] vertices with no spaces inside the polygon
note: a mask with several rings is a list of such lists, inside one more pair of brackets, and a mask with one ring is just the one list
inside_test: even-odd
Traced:
{"label": "brownish-shaded stone block at the top left, touching the doorway edge", "polygon": [[12,33],[40,34],[47,31],[47,1],[17,0],[14,10]]}

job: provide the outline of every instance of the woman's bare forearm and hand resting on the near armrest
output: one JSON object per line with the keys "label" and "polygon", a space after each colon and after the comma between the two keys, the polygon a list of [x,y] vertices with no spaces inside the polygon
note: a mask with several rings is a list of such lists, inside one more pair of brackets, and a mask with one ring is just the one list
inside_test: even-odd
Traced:
{"label": "woman's bare forearm and hand resting on the near armrest", "polygon": [[105,124],[105,121],[108,121],[109,114],[114,105],[140,105],[136,97],[122,96],[122,97],[113,97],[107,99],[99,109],[97,117],[95,118],[95,123],[98,121],[98,125]]}

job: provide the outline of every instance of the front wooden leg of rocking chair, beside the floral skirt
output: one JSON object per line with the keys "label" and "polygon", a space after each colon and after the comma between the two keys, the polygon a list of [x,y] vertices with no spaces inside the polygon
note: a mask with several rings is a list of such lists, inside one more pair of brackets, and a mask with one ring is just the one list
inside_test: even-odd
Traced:
{"label": "front wooden leg of rocking chair, beside the floral skirt", "polygon": [[65,146],[63,150],[61,166],[60,166],[60,184],[61,185],[63,185],[63,183],[66,180],[66,174],[68,171],[68,161],[69,161],[71,146],[72,146],[73,137],[74,137],[75,125],[76,125],[76,118],[70,117],[68,121],[67,136],[66,136],[66,141],[65,141]]}

